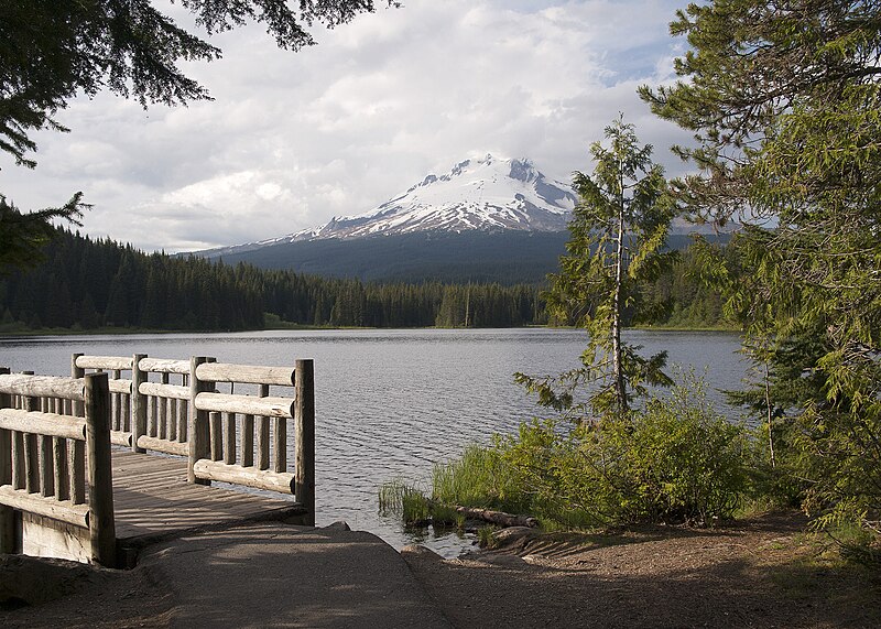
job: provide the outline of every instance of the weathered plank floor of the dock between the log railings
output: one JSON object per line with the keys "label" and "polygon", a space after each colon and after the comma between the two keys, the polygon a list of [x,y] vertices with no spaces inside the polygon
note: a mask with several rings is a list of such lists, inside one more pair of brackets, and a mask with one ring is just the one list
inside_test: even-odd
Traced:
{"label": "weathered plank floor of the dock between the log railings", "polygon": [[128,566],[152,543],[244,522],[295,521],[307,511],[293,496],[191,485],[185,458],[115,449],[112,474],[117,552]]}

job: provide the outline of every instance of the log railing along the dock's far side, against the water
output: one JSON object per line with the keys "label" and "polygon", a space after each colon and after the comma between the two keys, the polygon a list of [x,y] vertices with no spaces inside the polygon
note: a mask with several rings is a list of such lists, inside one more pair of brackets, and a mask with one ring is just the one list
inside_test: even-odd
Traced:
{"label": "log railing along the dock's far side, against the water", "polygon": [[[312,360],[294,368],[74,355],[73,375],[111,376],[111,441],[188,459],[188,481],[292,494],[315,523],[315,393]],[[129,378],[123,378],[129,372]],[[172,380],[177,380],[173,382]],[[217,389],[228,388],[229,393]],[[236,393],[250,387],[251,394]],[[272,388],[282,388],[281,392]],[[128,408],[127,408],[128,405]],[[293,422],[295,469],[289,471]]]}

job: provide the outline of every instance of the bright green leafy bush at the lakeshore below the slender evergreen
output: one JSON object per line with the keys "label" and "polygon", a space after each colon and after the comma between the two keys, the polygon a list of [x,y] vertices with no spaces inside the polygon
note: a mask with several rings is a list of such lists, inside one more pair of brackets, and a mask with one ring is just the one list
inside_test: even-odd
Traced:
{"label": "bright green leafy bush at the lakeshore below the slender evergreen", "polygon": [[716,413],[699,383],[641,411],[577,426],[522,424],[435,469],[434,498],[527,512],[566,528],[713,524],[751,485],[749,433]]}

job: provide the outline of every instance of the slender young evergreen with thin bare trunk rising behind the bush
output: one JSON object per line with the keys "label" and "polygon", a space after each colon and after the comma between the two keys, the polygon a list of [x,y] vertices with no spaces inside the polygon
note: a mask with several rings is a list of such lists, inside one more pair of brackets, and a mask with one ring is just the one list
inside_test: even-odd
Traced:
{"label": "slender young evergreen with thin bare trunk rising behind the bush", "polygon": [[562,392],[553,379],[522,373],[518,379],[539,392],[541,403],[558,410],[572,405],[575,387],[598,382],[592,411],[616,416],[628,411],[634,393],[644,393],[645,384],[671,383],[662,371],[666,353],[640,356],[639,347],[621,340],[621,328],[626,310],[637,305],[640,283],[672,261],[662,248],[674,208],[665,197],[663,171],[651,162],[652,148],[640,147],[633,126],[621,117],[606,128],[606,139],[608,148],[600,142],[590,148],[594,176],[575,173],[579,202],[569,223],[572,237],[547,293],[552,315],[590,333],[583,368],[563,375]]}

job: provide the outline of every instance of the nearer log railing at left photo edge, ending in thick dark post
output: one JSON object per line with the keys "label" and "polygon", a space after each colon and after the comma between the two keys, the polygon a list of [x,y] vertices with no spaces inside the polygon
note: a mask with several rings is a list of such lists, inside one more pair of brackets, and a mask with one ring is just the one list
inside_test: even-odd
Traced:
{"label": "nearer log railing at left photo edge, ending in thick dark post", "polygon": [[88,560],[116,565],[110,405],[104,373],[0,369],[0,552],[19,550],[18,510],[86,530]]}

